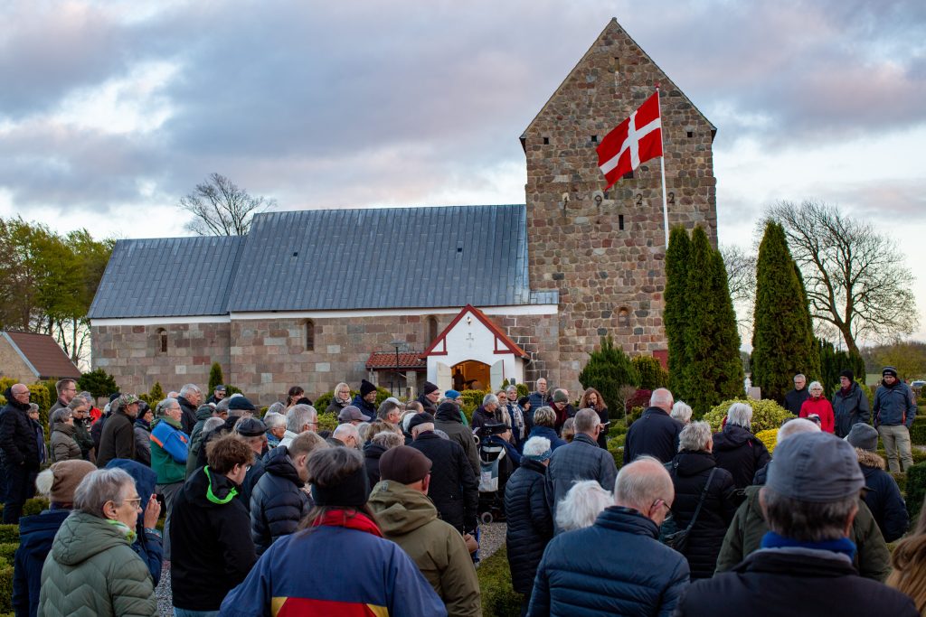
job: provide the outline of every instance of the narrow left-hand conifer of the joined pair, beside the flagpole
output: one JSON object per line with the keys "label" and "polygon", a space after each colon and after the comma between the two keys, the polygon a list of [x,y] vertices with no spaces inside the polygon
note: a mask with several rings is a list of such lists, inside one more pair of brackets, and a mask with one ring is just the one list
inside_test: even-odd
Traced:
{"label": "narrow left-hand conifer of the joined pair, beside the flagpole", "polygon": [[672,228],[669,248],[666,251],[666,307],[662,322],[669,340],[669,389],[675,398],[684,400],[688,394],[684,387],[685,360],[685,290],[688,285],[688,260],[691,239],[681,225]]}

